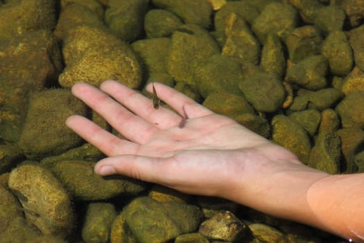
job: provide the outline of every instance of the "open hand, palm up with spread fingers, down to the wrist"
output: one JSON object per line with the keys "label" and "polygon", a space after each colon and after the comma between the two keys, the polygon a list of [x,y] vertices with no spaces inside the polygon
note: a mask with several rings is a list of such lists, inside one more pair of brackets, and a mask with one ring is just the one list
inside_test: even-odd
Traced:
{"label": "open hand, palm up with spread fingers, down to the wrist", "polygon": [[[188,194],[221,196],[263,211],[279,203],[284,206],[288,193],[295,196],[287,177],[291,183],[307,181],[297,187],[298,192],[326,176],[236,121],[171,87],[154,85],[159,98],[177,113],[162,106],[153,108],[150,99],[116,81],[105,81],[102,92],[86,83],[73,86],[76,97],[128,139],[116,137],[85,117],[67,119],[69,128],[109,156],[97,163],[96,173],[123,174]],[[306,174],[311,173],[315,176],[309,180]],[[271,190],[272,183],[278,192]],[[279,196],[278,201],[270,200]]]}

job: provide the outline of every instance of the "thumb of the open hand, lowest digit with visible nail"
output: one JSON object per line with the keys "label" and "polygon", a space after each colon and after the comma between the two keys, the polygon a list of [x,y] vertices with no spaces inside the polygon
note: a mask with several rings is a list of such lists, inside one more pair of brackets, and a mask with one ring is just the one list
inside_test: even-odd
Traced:
{"label": "thumb of the open hand, lowest digit with visible nail", "polygon": [[163,165],[169,158],[123,155],[100,160],[95,165],[95,172],[101,176],[121,174],[140,181],[160,183]]}

